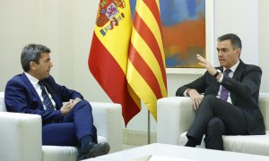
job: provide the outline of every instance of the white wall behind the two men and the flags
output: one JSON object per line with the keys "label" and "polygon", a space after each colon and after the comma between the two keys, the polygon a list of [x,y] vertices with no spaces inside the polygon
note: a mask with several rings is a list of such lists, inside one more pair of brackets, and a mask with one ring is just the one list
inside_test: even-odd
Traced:
{"label": "white wall behind the two men and the flags", "polygon": [[[54,63],[52,74],[59,83],[77,89],[89,101],[110,102],[88,69],[98,3],[98,0],[1,0],[0,90],[4,90],[6,81],[14,74],[22,72],[22,47],[34,42],[51,48]],[[261,91],[269,92],[265,84],[265,80],[269,79],[269,64],[266,62],[269,20],[265,15],[266,6],[269,6],[267,0],[214,0],[212,23],[214,40],[228,32],[239,34],[243,41],[242,60],[263,68]],[[216,41],[213,45],[215,48]],[[214,63],[218,64],[216,57]],[[179,86],[198,76],[168,74],[169,96],[174,96]],[[151,127],[152,131],[156,131],[153,119]],[[147,111],[144,107],[127,128],[147,131]]]}

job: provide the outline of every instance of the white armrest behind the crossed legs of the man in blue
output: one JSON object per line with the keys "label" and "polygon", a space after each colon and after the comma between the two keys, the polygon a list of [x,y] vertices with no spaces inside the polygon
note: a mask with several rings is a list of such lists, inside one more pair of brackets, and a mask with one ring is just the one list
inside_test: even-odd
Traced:
{"label": "white armrest behind the crossed legs of the man in blue", "polygon": [[91,102],[93,122],[97,133],[108,139],[110,152],[122,150],[121,105],[114,103]]}

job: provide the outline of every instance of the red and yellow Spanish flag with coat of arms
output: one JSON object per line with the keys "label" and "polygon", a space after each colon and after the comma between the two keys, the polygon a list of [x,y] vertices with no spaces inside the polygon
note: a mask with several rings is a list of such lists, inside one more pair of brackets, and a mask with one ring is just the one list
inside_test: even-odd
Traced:
{"label": "red and yellow Spanish flag with coat of arms", "polygon": [[141,109],[139,97],[126,80],[132,26],[128,0],[100,0],[88,60],[101,88],[121,104],[126,125]]}

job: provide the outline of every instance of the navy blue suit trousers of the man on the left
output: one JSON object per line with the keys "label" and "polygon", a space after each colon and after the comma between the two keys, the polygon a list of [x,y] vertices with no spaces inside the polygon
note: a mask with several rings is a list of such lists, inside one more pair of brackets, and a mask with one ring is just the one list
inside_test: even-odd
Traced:
{"label": "navy blue suit trousers of the man on the left", "polygon": [[85,135],[91,135],[92,141],[97,143],[91,105],[88,101],[82,100],[65,115],[61,123],[48,123],[42,127],[42,144],[77,146]]}

